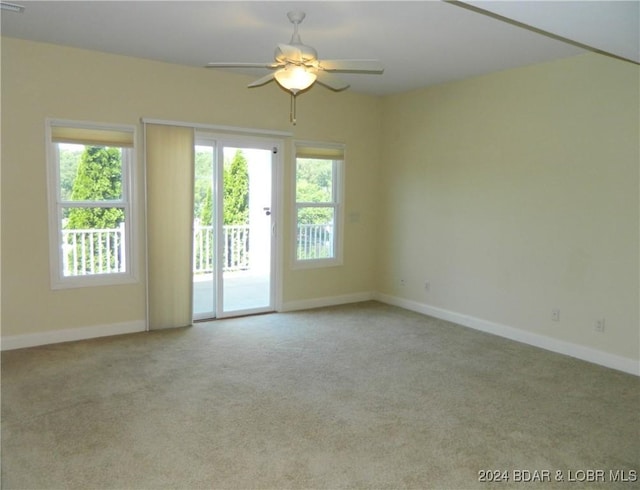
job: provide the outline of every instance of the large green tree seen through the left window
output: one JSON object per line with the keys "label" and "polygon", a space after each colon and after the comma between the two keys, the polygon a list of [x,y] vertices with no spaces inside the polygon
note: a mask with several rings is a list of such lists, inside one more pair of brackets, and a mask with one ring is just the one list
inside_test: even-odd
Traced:
{"label": "large green tree seen through the left window", "polygon": [[[72,201],[108,201],[122,197],[120,148],[85,147],[71,191]],[[124,220],[120,208],[73,208],[67,227],[74,230],[117,228]]]}

